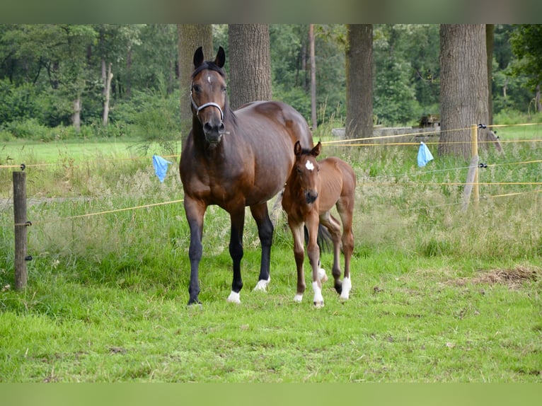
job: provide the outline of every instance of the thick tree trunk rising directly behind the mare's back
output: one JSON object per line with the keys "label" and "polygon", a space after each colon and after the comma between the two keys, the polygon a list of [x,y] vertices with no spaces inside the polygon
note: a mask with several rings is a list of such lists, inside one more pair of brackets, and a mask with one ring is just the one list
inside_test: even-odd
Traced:
{"label": "thick tree trunk rising directly behind the mare's back", "polygon": [[234,110],[255,100],[271,100],[269,25],[230,24],[229,99]]}

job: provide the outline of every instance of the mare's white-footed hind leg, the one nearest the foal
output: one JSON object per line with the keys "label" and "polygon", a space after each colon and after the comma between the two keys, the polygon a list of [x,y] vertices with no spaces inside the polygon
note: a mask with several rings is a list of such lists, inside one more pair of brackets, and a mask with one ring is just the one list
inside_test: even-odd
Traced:
{"label": "mare's white-footed hind leg, the one nearest the foal", "polygon": [[267,203],[250,206],[250,213],[258,226],[258,236],[262,245],[262,259],[260,262],[260,277],[256,284],[255,291],[265,291],[271,281],[270,263],[271,263],[271,243],[273,240],[273,224],[267,211]]}

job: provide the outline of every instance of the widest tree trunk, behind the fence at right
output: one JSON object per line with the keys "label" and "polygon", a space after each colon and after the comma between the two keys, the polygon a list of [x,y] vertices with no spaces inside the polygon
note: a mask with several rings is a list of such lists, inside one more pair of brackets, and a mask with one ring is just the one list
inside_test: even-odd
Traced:
{"label": "widest tree trunk, behind the fence at right", "polygon": [[[485,46],[485,24],[440,26],[442,132],[439,156],[457,155],[470,159],[470,127],[488,123],[488,54]],[[485,141],[486,137],[486,132],[478,132],[479,141]]]}

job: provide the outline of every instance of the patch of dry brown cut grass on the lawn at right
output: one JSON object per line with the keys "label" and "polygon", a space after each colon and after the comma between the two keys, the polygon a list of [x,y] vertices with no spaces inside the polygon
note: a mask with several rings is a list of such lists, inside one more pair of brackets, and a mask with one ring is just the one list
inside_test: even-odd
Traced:
{"label": "patch of dry brown cut grass on the lawn at right", "polygon": [[541,276],[542,271],[537,267],[517,266],[510,269],[490,269],[489,271],[479,271],[476,277],[459,278],[454,284],[464,286],[465,284],[506,284],[510,289],[517,289],[523,282],[536,281]]}

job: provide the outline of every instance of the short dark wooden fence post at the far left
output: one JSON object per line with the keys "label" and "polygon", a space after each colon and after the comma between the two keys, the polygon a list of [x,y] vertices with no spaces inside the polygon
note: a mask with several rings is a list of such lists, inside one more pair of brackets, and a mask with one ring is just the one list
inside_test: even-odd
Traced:
{"label": "short dark wooden fence post at the far left", "polygon": [[28,282],[26,270],[26,173],[13,171],[13,216],[15,218],[15,289]]}

